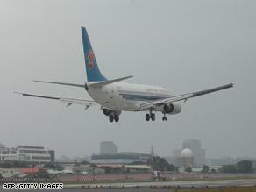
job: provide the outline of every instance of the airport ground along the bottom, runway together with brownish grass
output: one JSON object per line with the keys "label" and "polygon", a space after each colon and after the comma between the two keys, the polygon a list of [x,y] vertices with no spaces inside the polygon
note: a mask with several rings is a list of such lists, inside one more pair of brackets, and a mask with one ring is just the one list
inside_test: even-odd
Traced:
{"label": "airport ground along the bottom, runway together with brownish grass", "polygon": [[[166,191],[192,191],[192,192],[244,192],[256,191],[256,179],[233,179],[233,180],[214,180],[214,181],[147,181],[147,182],[104,182],[101,183],[79,183],[79,184],[65,184],[65,191],[152,191],[152,190],[166,190]],[[15,191],[14,189],[2,191]],[[17,191],[17,190],[16,190]],[[23,191],[49,191],[49,190],[24,190]],[[56,191],[56,190],[55,190]]]}

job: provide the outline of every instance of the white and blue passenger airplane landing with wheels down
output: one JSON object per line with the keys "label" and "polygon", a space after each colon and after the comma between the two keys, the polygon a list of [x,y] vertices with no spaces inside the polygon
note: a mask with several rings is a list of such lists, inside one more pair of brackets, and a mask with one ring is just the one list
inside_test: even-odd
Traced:
{"label": "white and blue passenger airplane landing with wheels down", "polygon": [[89,41],[89,35],[85,27],[82,27],[82,43],[87,73],[87,82],[84,84],[74,84],[65,82],[46,82],[66,86],[73,86],[86,89],[89,96],[93,100],[63,98],[57,96],[43,96],[29,93],[14,92],[23,96],[34,96],[46,99],[55,99],[60,102],[71,104],[85,105],[85,110],[89,107],[99,104],[103,114],[109,117],[110,122],[118,122],[121,112],[124,111],[146,111],[146,121],[155,120],[155,112],[160,111],[163,114],[162,120],[167,121],[166,115],[174,115],[181,112],[181,104],[177,103],[196,96],[203,96],[218,90],[233,87],[233,83],[229,83],[217,88],[205,89],[194,93],[173,96],[167,89],[152,85],[134,84],[121,82],[132,76],[108,80],[102,75]]}

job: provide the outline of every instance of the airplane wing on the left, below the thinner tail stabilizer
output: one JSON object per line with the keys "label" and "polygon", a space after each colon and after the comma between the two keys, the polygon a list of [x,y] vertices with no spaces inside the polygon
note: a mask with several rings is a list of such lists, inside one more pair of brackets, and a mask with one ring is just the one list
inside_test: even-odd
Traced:
{"label": "airplane wing on the left, below the thinner tail stabilizer", "polygon": [[96,102],[93,100],[85,100],[85,99],[74,99],[74,98],[64,98],[64,97],[56,97],[56,96],[41,96],[41,95],[33,95],[28,93],[19,93],[19,92],[13,92],[17,94],[21,94],[23,96],[34,96],[39,98],[45,98],[45,99],[55,99],[59,100],[60,102],[68,103],[67,107],[71,104],[82,104],[85,105],[85,110],[87,110],[90,106],[96,105]]}

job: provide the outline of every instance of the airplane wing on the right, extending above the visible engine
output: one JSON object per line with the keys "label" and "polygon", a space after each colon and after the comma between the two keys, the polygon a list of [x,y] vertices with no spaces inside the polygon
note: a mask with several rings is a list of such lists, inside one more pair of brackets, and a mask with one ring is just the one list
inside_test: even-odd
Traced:
{"label": "airplane wing on the right, extending above the visible engine", "polygon": [[184,102],[187,101],[188,98],[192,98],[195,96],[203,96],[205,94],[209,94],[218,90],[222,90],[222,89],[228,89],[233,87],[233,83],[227,84],[227,85],[223,85],[217,88],[212,88],[212,89],[206,89],[206,90],[202,90],[202,91],[197,91],[195,93],[189,93],[189,94],[184,94],[184,95],[180,95],[180,96],[172,96],[169,98],[164,98],[164,99],[158,99],[155,100],[153,102],[147,102],[147,103],[142,103],[140,105],[140,110],[146,110],[146,109],[152,109],[155,108],[157,106],[160,105],[164,105],[164,104],[168,104],[168,103],[173,103],[173,102],[178,102],[181,100],[185,100]]}

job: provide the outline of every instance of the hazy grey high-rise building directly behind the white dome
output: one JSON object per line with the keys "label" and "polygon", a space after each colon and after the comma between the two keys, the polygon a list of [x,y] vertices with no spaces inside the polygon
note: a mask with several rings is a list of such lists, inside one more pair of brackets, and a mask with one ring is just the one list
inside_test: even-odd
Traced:
{"label": "hazy grey high-rise building directly behind the white dome", "polygon": [[204,165],[205,161],[205,149],[202,149],[200,140],[188,139],[183,142],[183,149],[190,149],[194,154],[194,164]]}

